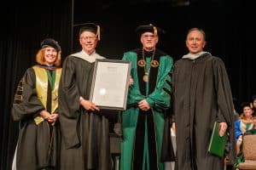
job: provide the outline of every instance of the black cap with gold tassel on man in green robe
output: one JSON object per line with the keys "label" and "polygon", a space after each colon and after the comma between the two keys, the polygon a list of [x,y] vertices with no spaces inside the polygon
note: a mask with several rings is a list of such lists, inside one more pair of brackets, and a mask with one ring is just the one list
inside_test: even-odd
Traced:
{"label": "black cap with gold tassel on man in green robe", "polygon": [[152,24],[145,25],[145,26],[138,26],[135,31],[136,31],[140,36],[141,36],[144,32],[152,32],[152,33],[154,33],[155,36],[158,36],[158,35],[160,35],[160,34],[165,34],[165,33],[166,33],[166,31],[164,31],[164,30],[161,29],[160,27],[153,26]]}

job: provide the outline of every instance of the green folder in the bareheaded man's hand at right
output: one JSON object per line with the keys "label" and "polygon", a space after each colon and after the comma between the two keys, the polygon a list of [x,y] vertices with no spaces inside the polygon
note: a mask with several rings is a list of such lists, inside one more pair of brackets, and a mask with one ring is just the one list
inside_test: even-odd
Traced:
{"label": "green folder in the bareheaded man's hand at right", "polygon": [[223,157],[225,144],[227,139],[227,133],[224,133],[224,136],[220,137],[218,135],[219,125],[218,122],[214,122],[214,127],[212,129],[212,137],[208,147],[208,151],[215,156]]}

